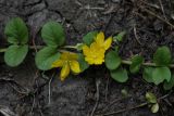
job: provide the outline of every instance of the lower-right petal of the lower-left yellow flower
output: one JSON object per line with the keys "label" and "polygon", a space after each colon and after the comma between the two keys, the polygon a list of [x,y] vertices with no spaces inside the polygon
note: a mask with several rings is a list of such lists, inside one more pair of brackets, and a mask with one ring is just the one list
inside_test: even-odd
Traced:
{"label": "lower-right petal of the lower-left yellow flower", "polygon": [[78,63],[77,61],[71,61],[71,62],[70,62],[70,68],[71,68],[72,72],[75,73],[75,74],[80,73],[79,63]]}

